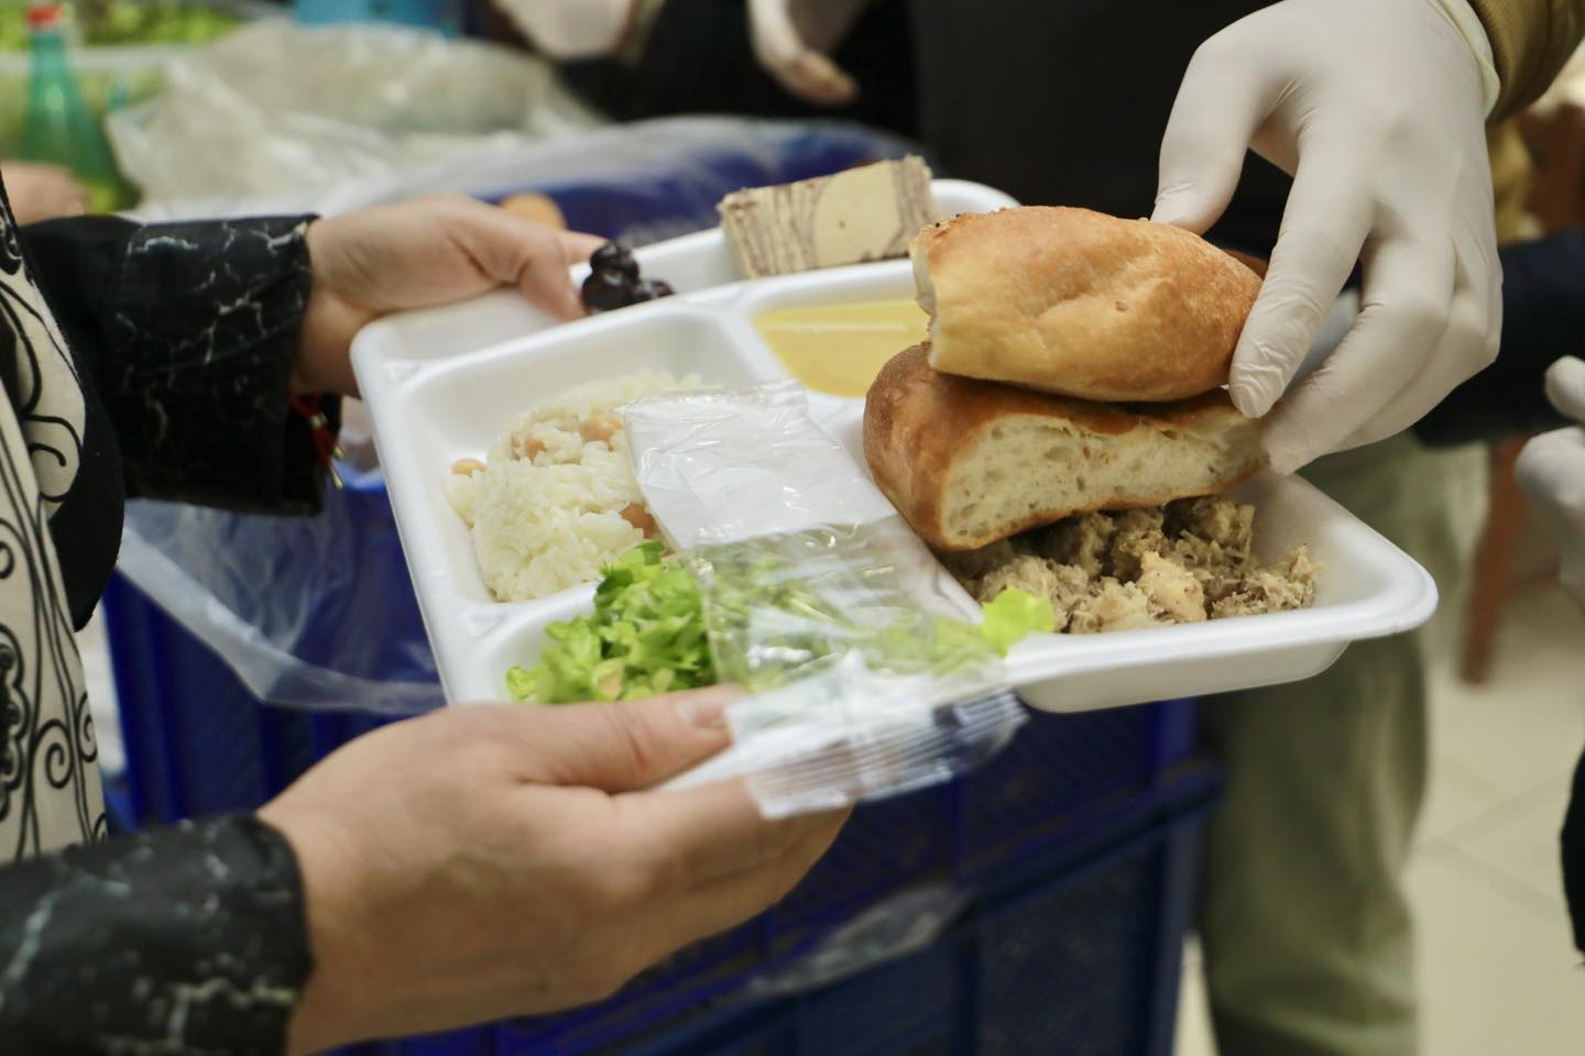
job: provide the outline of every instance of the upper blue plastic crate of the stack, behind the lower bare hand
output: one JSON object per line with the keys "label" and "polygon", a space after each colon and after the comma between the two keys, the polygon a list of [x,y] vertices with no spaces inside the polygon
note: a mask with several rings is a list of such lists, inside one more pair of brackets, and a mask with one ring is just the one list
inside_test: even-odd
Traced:
{"label": "upper blue plastic crate of the stack, behind the lower bare hand", "polygon": [[[124,579],[106,595],[106,625],[138,819],[168,822],[258,806],[315,760],[384,722],[262,705],[203,643]],[[1071,845],[1098,819],[1127,812],[1192,758],[1192,719],[1190,701],[1035,714],[978,773],[856,811],[805,882],[761,918],[682,952],[610,1002],[502,1031],[523,1051],[620,1047],[697,1015],[745,977],[797,956],[832,926],[910,885],[1002,883],[1021,861]],[[399,1051],[493,1050],[479,1032],[458,1032],[406,1042]]]}

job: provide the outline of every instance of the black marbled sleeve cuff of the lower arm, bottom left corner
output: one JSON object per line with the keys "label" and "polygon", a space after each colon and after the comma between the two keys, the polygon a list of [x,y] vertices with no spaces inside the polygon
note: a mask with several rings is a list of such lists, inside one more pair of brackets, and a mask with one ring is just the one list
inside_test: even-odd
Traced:
{"label": "black marbled sleeve cuff of the lower arm, bottom left corner", "polygon": [[296,861],[252,815],[0,868],[0,1048],[281,1053],[312,969]]}

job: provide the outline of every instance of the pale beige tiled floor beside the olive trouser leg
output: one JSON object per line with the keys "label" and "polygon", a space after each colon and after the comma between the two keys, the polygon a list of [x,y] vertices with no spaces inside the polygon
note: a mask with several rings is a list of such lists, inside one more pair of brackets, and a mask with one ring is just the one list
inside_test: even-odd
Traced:
{"label": "pale beige tiled floor beside the olive trouser leg", "polygon": [[[1450,622],[1450,621],[1449,621]],[[1487,686],[1433,673],[1431,790],[1409,891],[1426,1056],[1579,1056],[1585,967],[1558,828],[1585,747],[1585,617],[1556,587],[1514,605]],[[1214,1051],[1194,950],[1179,1056]]]}

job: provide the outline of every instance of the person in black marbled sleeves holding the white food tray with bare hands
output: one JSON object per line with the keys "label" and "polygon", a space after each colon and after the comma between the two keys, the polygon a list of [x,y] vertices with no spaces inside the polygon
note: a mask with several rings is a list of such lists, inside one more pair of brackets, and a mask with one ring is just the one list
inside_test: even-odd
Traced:
{"label": "person in black marbled sleeves holding the white food tray with bare hands", "polygon": [[125,497],[311,513],[353,334],[598,239],[463,198],[334,218],[19,228],[0,192],[0,1048],[306,1053],[615,991],[785,895],[842,817],[739,782],[729,690],[453,708],[257,812],[106,839],[82,665]]}

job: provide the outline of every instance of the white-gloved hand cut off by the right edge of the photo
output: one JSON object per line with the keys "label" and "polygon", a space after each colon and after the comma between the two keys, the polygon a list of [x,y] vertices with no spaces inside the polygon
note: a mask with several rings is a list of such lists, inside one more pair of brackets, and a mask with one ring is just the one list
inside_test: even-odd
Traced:
{"label": "white-gloved hand cut off by the right edge of the photo", "polygon": [[[1558,359],[1547,370],[1547,399],[1558,413],[1585,424],[1585,361]],[[1585,608],[1585,429],[1545,432],[1514,467],[1518,486],[1558,529],[1563,589]]]}

